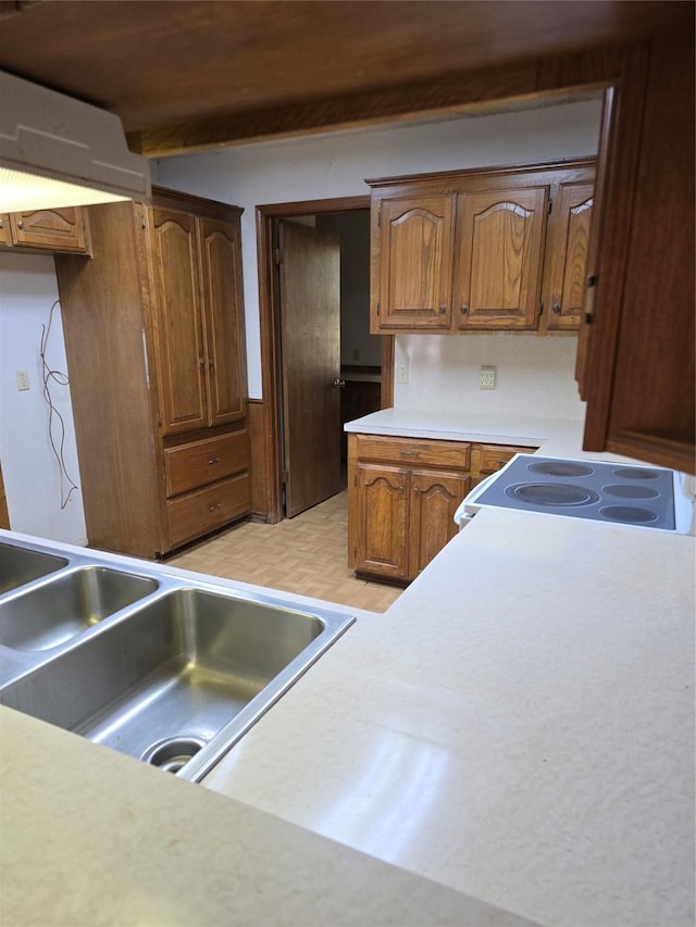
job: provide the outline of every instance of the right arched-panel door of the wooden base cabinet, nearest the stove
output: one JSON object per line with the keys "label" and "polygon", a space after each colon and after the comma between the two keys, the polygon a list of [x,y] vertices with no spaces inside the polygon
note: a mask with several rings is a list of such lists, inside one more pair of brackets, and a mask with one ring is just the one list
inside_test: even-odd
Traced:
{"label": "right arched-panel door of the wooden base cabinet, nearest the stove", "polygon": [[409,577],[415,578],[457,534],[455,512],[471,487],[461,473],[411,471]]}

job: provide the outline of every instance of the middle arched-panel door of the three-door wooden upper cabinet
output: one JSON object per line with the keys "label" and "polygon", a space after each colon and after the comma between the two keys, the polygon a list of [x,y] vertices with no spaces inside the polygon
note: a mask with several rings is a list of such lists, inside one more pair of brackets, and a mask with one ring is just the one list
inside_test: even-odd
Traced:
{"label": "middle arched-panel door of the three-door wooden upper cabinet", "polygon": [[537,327],[546,210],[546,187],[458,196],[459,328]]}

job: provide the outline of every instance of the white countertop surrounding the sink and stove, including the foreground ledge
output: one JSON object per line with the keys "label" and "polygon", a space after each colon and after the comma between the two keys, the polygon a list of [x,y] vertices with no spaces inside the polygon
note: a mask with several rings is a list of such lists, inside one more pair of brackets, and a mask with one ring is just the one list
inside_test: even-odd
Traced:
{"label": "white countertop surrounding the sink and stove, including the foreground ledge", "polygon": [[[530,421],[403,427],[581,455]],[[487,510],[202,787],[1,710],[0,920],[693,925],[694,553]]]}

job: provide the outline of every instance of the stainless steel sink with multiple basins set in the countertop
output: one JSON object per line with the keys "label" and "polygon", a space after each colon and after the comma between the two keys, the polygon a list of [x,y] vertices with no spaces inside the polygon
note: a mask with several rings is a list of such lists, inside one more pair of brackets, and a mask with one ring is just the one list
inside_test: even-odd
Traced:
{"label": "stainless steel sink with multiple basins set in the countertop", "polygon": [[353,621],[0,536],[0,704],[191,781]]}

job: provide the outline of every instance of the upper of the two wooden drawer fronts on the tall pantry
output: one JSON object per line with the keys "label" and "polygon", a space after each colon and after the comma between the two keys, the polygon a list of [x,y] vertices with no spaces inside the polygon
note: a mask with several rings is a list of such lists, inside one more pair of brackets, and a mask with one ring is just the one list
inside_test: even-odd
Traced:
{"label": "upper of the two wooden drawer fronts on the tall pantry", "polygon": [[178,496],[244,469],[249,469],[246,429],[164,451],[167,496]]}

